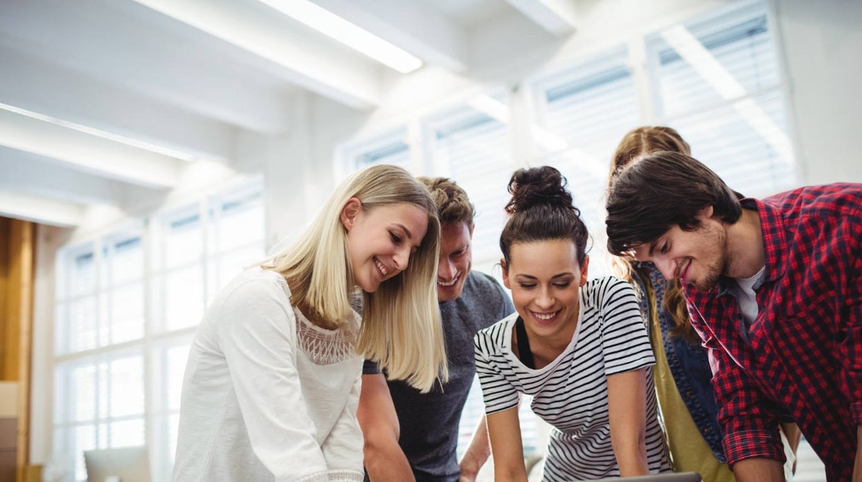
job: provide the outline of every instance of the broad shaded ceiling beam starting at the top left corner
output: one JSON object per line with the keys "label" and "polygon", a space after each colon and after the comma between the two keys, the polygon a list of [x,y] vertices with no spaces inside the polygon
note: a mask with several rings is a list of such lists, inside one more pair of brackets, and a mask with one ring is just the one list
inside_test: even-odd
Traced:
{"label": "broad shaded ceiling beam starting at the top left corner", "polygon": [[178,22],[127,0],[28,0],[3,10],[0,43],[241,128],[290,128],[290,85],[238,62],[228,54],[235,46],[170,24]]}

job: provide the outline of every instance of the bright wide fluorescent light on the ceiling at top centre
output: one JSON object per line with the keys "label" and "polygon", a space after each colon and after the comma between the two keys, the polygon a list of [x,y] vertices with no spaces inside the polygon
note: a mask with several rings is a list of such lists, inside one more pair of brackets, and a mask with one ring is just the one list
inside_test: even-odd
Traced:
{"label": "bright wide fluorescent light on the ceiling at top centre", "polygon": [[409,73],[422,66],[422,59],[308,0],[260,0],[260,2],[398,72]]}

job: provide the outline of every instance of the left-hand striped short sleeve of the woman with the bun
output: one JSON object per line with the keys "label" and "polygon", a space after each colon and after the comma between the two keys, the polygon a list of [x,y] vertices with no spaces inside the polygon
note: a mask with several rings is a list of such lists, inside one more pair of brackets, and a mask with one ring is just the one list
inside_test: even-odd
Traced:
{"label": "left-hand striped short sleeve of the woman with the bun", "polygon": [[476,373],[482,385],[485,413],[488,415],[518,406],[518,391],[504,375],[505,372],[512,372],[503,348],[509,319],[494,323],[473,337]]}

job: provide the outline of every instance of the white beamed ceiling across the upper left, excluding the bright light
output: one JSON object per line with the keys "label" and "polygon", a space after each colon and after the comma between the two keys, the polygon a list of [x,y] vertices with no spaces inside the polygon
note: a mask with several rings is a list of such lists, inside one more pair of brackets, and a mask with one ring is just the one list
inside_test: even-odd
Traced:
{"label": "white beamed ceiling across the upper left, excluding the bright light", "polygon": [[[297,93],[371,111],[410,75],[277,8],[297,0],[0,0],[0,216],[73,227],[290,130]],[[304,0],[303,0],[304,1]],[[315,0],[429,66],[470,72],[478,29],[561,38],[574,0]],[[513,22],[513,18],[517,22]],[[530,30],[529,32],[527,30]]]}

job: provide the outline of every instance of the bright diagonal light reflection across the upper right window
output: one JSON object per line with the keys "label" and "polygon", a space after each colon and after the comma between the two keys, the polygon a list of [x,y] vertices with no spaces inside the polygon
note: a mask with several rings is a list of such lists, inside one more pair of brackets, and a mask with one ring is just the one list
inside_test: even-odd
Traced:
{"label": "bright diagonal light reflection across the upper right window", "polygon": [[790,139],[781,128],[767,116],[763,109],[746,96],[746,89],[728,72],[712,53],[691,34],[688,28],[674,25],[661,32],[661,37],[679,56],[689,63],[707,84],[712,86],[725,100],[740,99],[733,103],[734,110],[775,149],[778,156],[787,162],[793,159]]}

